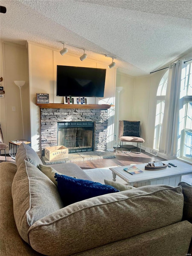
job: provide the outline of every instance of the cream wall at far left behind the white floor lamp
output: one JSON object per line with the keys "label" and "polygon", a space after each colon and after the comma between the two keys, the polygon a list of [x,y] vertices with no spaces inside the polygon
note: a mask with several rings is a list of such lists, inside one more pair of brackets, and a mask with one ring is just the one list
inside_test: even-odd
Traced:
{"label": "cream wall at far left behind the white floor lamp", "polygon": [[[1,77],[3,77],[1,86],[5,91],[4,98],[0,98],[0,122],[4,143],[9,145],[10,140],[30,140],[28,62],[25,46],[10,42],[1,43]],[[20,90],[14,80],[26,81],[21,88],[24,138]],[[12,111],[12,107],[15,107],[16,111]]]}

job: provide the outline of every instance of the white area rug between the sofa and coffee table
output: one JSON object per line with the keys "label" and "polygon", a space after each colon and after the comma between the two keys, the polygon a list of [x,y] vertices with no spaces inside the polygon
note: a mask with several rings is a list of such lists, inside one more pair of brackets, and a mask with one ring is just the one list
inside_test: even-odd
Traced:
{"label": "white area rug between the sofa and coffee table", "polygon": [[[104,184],[104,179],[113,181],[112,171],[109,168],[117,167],[104,167],[104,168],[95,168],[95,169],[85,169],[84,172],[95,182],[100,182]],[[121,179],[119,176],[116,176],[116,182],[121,184],[127,184],[126,181]]]}

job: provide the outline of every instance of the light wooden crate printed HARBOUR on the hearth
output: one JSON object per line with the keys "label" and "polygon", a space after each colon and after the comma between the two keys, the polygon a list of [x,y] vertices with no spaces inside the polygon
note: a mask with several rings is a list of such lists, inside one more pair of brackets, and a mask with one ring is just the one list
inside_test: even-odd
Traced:
{"label": "light wooden crate printed HARBOUR on the hearth", "polygon": [[68,149],[65,146],[46,147],[45,157],[49,161],[68,158]]}

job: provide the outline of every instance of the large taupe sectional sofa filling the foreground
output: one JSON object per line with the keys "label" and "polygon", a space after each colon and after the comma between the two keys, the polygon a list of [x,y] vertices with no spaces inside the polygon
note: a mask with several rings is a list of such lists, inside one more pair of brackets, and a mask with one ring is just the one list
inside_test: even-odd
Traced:
{"label": "large taupe sectional sofa filling the foreground", "polygon": [[[182,186],[145,186],[63,207],[57,187],[41,172],[40,164],[24,143],[16,164],[0,164],[1,256],[187,254],[192,224],[182,220]],[[52,167],[91,180],[76,164]],[[186,200],[185,209],[190,207]],[[190,212],[185,212],[187,218],[191,221]]]}

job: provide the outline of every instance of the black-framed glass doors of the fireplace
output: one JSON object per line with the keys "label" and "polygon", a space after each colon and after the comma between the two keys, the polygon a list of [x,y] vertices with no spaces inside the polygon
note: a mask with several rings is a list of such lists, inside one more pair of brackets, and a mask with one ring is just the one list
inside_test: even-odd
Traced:
{"label": "black-framed glass doors of the fireplace", "polygon": [[94,122],[59,122],[58,145],[69,153],[93,151]]}

